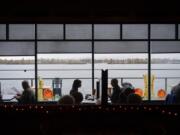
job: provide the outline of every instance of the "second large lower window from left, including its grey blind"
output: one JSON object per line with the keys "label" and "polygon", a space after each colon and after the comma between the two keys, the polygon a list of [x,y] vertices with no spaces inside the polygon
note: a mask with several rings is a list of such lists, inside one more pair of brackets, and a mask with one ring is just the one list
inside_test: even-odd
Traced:
{"label": "second large lower window from left, including its grey blind", "polygon": [[[61,80],[59,98],[69,94],[73,81],[82,82],[79,92],[85,97],[92,93],[91,42],[38,42],[38,76],[44,80],[44,87],[54,91],[53,80]],[[56,101],[58,97],[39,99]]]}

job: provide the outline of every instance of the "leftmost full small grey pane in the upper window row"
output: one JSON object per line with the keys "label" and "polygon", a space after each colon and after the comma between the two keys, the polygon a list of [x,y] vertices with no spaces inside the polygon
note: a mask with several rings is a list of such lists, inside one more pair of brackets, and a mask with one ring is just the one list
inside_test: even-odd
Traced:
{"label": "leftmost full small grey pane in the upper window row", "polygon": [[9,39],[34,39],[34,24],[10,24]]}

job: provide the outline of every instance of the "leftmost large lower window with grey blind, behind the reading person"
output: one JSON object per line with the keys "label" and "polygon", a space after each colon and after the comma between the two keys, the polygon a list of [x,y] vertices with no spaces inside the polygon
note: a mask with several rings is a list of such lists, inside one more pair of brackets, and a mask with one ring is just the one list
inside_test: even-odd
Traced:
{"label": "leftmost large lower window with grey blind, behind the reading person", "polygon": [[[3,100],[16,101],[22,93],[22,81],[35,88],[35,59],[33,42],[0,42],[0,86]],[[35,89],[34,89],[35,92]]]}

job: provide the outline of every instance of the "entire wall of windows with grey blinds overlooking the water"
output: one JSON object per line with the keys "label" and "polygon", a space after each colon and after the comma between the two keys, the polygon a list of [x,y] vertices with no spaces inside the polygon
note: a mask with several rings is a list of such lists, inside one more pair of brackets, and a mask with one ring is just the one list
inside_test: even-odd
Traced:
{"label": "entire wall of windows with grey blinds overlooking the water", "polygon": [[[62,95],[69,94],[75,79],[82,81],[80,92],[85,97],[96,89],[96,82],[101,83],[101,70],[108,69],[109,86],[111,79],[117,78],[120,86],[123,82],[130,82],[141,91],[138,94],[141,94],[144,100],[164,100],[180,78],[180,24],[175,26],[0,24],[2,94],[12,96],[19,89],[21,92],[21,82],[24,79],[35,89],[37,76],[38,101],[57,101]],[[151,85],[148,84],[149,69]],[[54,89],[57,80],[61,89],[59,97],[54,95],[57,94]],[[44,84],[39,90],[42,81]],[[3,98],[8,99],[5,96]]]}

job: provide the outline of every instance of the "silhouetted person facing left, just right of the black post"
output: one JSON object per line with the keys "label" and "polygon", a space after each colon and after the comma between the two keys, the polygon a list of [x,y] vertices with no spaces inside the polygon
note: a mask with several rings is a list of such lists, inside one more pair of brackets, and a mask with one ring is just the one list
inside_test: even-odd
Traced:
{"label": "silhouetted person facing left, just right of the black post", "polygon": [[111,85],[113,87],[113,92],[112,95],[110,96],[111,103],[116,104],[119,101],[119,95],[122,92],[122,90],[118,85],[118,80],[115,78],[111,80]]}

